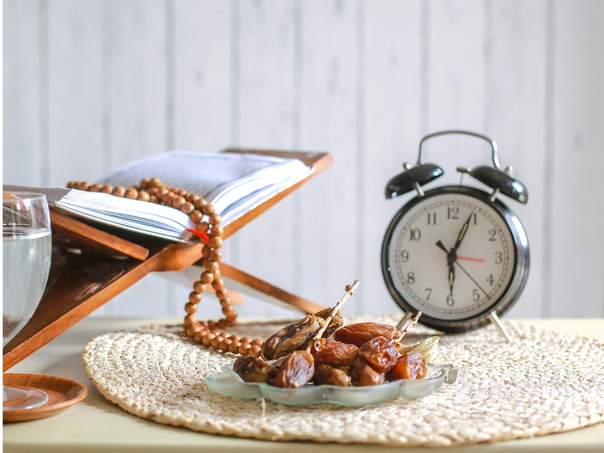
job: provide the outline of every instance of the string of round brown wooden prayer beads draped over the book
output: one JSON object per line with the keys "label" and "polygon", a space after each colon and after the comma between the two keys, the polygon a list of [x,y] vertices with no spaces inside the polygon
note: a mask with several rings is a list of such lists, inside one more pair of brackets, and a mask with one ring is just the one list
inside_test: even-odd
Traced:
{"label": "string of round brown wooden prayer beads draped over the book", "polygon": [[[230,335],[223,330],[237,323],[237,312],[233,308],[231,298],[228,296],[224,280],[220,277],[222,252],[219,249],[223,244],[223,228],[220,226],[222,219],[211,204],[198,194],[169,187],[159,181],[159,178],[145,178],[140,185],[127,189],[121,185],[111,187],[109,184],[89,184],[87,181],[70,181],[67,187],[159,203],[188,214],[191,221],[195,223],[196,230],[199,233],[206,234],[209,238],[204,248],[202,248],[201,261],[205,270],[199,276],[199,280],[193,283],[193,291],[189,294],[189,300],[185,304],[185,312],[187,312],[187,316],[184,318],[185,333],[196,342],[220,352],[260,356],[262,339],[252,339],[249,336],[240,338],[239,335]],[[202,222],[204,216],[207,217],[207,221]],[[225,315],[224,318],[218,321],[198,321],[194,315],[208,284],[211,284],[216,292],[216,297],[220,300],[222,313]]]}

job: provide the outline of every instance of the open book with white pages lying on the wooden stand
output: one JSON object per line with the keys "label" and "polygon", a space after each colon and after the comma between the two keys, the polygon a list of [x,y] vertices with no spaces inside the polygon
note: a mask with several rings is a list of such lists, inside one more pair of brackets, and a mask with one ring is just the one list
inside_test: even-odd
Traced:
{"label": "open book with white pages lying on the wooden stand", "polygon": [[[164,184],[197,193],[214,205],[228,225],[259,204],[312,173],[298,159],[258,154],[181,152],[161,153],[127,164],[100,182],[130,187],[143,178],[158,177]],[[187,214],[175,208],[76,189],[4,186],[4,190],[45,193],[51,207],[72,216],[147,234],[187,242],[194,228]]]}

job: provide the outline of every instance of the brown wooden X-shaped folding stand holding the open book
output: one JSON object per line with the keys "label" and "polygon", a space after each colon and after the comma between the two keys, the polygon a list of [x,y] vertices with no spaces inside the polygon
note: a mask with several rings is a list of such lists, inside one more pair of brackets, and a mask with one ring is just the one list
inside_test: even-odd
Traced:
{"label": "brown wooden X-shaped folding stand holding the open book", "polygon": [[[232,236],[242,226],[297,190],[333,161],[329,153],[248,149],[227,149],[224,152],[295,157],[313,167],[314,171],[307,178],[226,225],[223,239]],[[31,320],[5,345],[2,352],[5,371],[149,272],[183,271],[201,257],[201,243],[165,243],[123,233],[118,237],[54,210],[51,210],[51,224],[53,263],[47,287]],[[305,313],[323,308],[226,263],[221,263],[220,271],[231,281],[237,281],[254,292],[265,294]]]}

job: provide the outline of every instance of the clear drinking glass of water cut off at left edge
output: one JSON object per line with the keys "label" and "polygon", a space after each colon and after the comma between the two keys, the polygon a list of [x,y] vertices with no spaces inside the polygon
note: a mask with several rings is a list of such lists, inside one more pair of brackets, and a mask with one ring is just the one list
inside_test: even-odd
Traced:
{"label": "clear drinking glass of water cut off at left edge", "polygon": [[[2,192],[2,346],[27,324],[42,298],[52,241],[46,196]],[[33,388],[2,386],[6,410],[29,409],[48,401]]]}

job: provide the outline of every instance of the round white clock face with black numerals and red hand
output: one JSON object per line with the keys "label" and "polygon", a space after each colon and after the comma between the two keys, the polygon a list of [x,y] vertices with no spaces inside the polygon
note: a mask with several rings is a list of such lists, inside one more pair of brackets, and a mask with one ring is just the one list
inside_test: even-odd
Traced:
{"label": "round white clock face with black numerals and red hand", "polygon": [[426,197],[399,220],[388,245],[394,288],[408,304],[441,320],[484,312],[504,294],[515,270],[505,220],[465,194]]}

